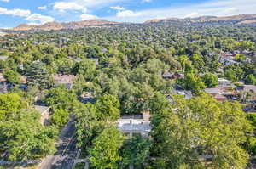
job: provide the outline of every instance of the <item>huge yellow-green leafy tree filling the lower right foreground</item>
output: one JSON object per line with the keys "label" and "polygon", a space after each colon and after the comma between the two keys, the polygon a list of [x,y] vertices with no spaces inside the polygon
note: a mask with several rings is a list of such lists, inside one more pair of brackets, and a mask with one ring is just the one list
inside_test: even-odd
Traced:
{"label": "huge yellow-green leafy tree filling the lower right foreground", "polygon": [[252,127],[241,104],[221,103],[207,94],[189,100],[177,97],[174,102],[152,113],[154,155],[163,162],[162,168],[247,166],[248,154],[241,144]]}

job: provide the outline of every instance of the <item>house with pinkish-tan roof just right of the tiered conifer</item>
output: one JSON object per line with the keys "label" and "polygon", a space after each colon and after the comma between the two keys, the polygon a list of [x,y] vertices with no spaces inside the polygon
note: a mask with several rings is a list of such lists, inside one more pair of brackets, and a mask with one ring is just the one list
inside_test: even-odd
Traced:
{"label": "house with pinkish-tan roof just right of the tiered conifer", "polygon": [[64,85],[67,89],[73,88],[73,82],[75,80],[74,75],[54,75],[52,76],[57,86]]}

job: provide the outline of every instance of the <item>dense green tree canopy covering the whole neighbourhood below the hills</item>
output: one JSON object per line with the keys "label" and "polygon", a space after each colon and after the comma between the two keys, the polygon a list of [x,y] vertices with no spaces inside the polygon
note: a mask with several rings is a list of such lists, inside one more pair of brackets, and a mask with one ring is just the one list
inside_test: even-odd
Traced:
{"label": "dense green tree canopy covering the whole neighbourhood below the hills", "polygon": [[[0,39],[0,54],[8,56],[0,70],[10,87],[0,94],[6,160],[52,154],[69,115],[75,115],[77,147],[96,169],[242,169],[256,155],[254,115],[204,93],[220,77],[256,84],[255,27],[118,25]],[[251,61],[236,50],[249,52]],[[229,54],[235,60],[221,62]],[[73,88],[56,85],[54,75],[76,76]],[[194,97],[177,97],[174,88]],[[33,109],[38,95],[51,107],[49,126]],[[121,115],[145,111],[152,115],[149,138],[126,139],[116,129]]]}

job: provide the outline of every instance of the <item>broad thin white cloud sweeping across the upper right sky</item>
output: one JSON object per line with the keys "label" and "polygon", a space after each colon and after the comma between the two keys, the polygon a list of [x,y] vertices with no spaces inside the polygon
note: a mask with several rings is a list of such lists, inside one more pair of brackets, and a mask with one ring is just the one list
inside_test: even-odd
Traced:
{"label": "broad thin white cloud sweeping across the upper right sky", "polygon": [[[113,21],[125,22],[144,22],[151,19],[165,19],[165,18],[184,18],[185,16],[201,15],[216,15],[226,16],[235,14],[255,14],[256,3],[255,0],[210,0],[205,3],[197,4],[177,4],[167,8],[153,8],[147,10],[137,11],[137,15],[130,12],[124,17],[108,16],[104,19]],[[124,11],[123,11],[124,12]]]}

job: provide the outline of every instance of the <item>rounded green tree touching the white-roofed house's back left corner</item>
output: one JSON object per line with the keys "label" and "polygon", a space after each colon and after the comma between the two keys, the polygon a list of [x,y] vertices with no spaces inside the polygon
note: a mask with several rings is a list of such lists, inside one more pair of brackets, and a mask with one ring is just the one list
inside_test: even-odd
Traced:
{"label": "rounded green tree touching the white-roofed house's back left corner", "polygon": [[96,115],[99,119],[117,120],[120,116],[119,100],[112,95],[103,95],[96,101]]}

